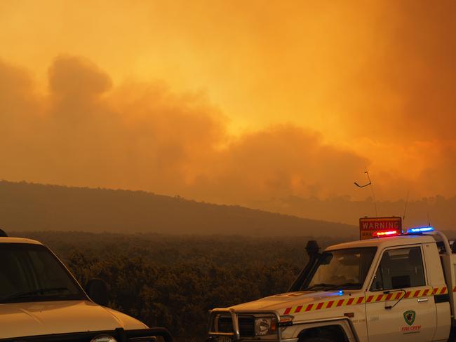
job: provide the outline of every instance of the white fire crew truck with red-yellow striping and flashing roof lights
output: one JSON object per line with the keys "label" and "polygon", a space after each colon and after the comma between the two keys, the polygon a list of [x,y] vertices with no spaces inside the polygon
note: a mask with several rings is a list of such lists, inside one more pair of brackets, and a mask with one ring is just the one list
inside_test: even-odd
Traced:
{"label": "white fire crew truck with red-yellow striping and flashing roof lights", "polygon": [[208,341],[455,341],[456,254],[443,233],[383,231],[323,252],[311,241],[307,253],[288,293],[211,310]]}

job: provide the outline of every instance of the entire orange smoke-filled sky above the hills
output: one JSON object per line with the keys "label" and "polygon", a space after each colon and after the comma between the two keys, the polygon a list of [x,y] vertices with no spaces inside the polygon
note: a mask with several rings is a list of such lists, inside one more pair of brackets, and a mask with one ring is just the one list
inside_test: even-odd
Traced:
{"label": "entire orange smoke-filled sky above the hills", "polygon": [[[455,1],[1,1],[0,178],[456,194]],[[278,208],[279,210],[279,208]]]}

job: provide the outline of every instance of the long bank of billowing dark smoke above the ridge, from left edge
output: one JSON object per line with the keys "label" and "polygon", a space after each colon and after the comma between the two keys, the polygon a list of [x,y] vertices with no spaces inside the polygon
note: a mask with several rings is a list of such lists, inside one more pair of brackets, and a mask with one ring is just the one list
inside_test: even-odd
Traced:
{"label": "long bank of billowing dark smoke above the ridge, from left edge", "polygon": [[26,71],[2,63],[1,177],[146,189],[217,202],[331,196],[366,165],[321,135],[277,125],[234,138],[201,94],[123,83],[81,57],[60,56],[37,94]]}

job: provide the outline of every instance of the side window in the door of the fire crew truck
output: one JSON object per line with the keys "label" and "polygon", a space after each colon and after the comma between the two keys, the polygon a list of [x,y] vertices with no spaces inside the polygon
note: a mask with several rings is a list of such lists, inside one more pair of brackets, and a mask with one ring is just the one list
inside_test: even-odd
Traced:
{"label": "side window in the door of the fire crew truck", "polygon": [[420,247],[389,249],[383,253],[371,291],[426,285]]}

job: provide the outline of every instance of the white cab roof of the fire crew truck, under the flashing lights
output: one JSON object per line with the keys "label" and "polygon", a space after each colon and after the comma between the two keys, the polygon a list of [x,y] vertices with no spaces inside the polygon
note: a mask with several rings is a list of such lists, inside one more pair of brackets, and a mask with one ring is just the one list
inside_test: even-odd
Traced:
{"label": "white cab roof of the fire crew truck, under the flashing lights", "polygon": [[337,245],[333,245],[328,247],[326,250],[333,250],[333,249],[347,249],[347,248],[355,248],[355,247],[394,247],[394,246],[402,246],[402,245],[411,245],[415,243],[429,243],[429,242],[436,242],[431,235],[398,235],[398,236],[391,236],[388,238],[373,238],[369,240],[359,240],[359,241],[351,241],[351,242],[344,242],[339,243]]}

